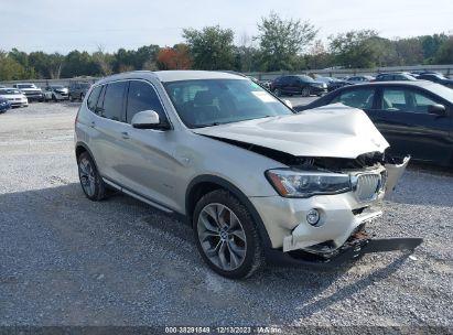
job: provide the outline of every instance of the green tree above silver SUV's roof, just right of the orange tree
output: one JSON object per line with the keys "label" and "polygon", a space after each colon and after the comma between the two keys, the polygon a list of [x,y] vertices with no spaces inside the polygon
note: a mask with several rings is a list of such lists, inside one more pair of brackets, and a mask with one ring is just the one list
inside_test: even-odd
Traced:
{"label": "green tree above silver SUV's roof, just right of the orange tree", "polygon": [[231,69],[235,61],[234,32],[219,25],[202,30],[184,29],[193,67],[199,69]]}

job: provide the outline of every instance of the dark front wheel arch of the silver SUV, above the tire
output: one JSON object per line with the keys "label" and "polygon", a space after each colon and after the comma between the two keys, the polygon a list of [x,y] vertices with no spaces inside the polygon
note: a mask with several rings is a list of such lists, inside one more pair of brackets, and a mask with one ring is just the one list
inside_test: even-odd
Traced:
{"label": "dark front wheel arch of the silver SUV, above the tire", "polygon": [[269,250],[272,245],[268,231],[266,230],[265,224],[262,223],[261,217],[255,208],[254,204],[238,187],[236,187],[234,184],[231,184],[223,177],[205,174],[198,175],[194,180],[192,180],[185,193],[185,214],[187,221],[192,223],[192,216],[198,199],[203,195],[220,188],[230,192],[246,206],[246,208],[249,210],[251,217],[257,224],[258,234],[263,244],[265,251]]}

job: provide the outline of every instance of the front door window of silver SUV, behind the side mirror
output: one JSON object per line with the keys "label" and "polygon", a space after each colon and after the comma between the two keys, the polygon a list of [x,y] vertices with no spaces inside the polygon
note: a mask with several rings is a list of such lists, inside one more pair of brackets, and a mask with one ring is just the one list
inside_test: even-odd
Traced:
{"label": "front door window of silver SUV, behind the side mirror", "polygon": [[131,122],[133,116],[143,110],[154,110],[161,120],[166,119],[165,112],[154,88],[144,82],[131,80],[129,84],[126,120]]}

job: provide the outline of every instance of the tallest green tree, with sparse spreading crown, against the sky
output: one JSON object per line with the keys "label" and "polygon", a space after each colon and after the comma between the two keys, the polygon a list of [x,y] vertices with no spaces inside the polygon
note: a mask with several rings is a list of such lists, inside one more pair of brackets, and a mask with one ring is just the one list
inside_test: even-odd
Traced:
{"label": "tallest green tree, with sparse spreading crown, against the sky", "polygon": [[305,51],[317,34],[308,21],[283,20],[271,12],[258,24],[262,63],[267,71],[293,69],[298,55]]}

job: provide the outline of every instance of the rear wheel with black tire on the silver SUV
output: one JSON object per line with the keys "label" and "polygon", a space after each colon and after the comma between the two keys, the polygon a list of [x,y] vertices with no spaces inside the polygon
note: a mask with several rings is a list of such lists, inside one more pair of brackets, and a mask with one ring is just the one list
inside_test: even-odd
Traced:
{"label": "rear wheel with black tire on the silver SUV", "polygon": [[77,166],[78,179],[86,197],[93,202],[104,199],[106,197],[106,184],[88,152],[80,153],[77,159]]}

